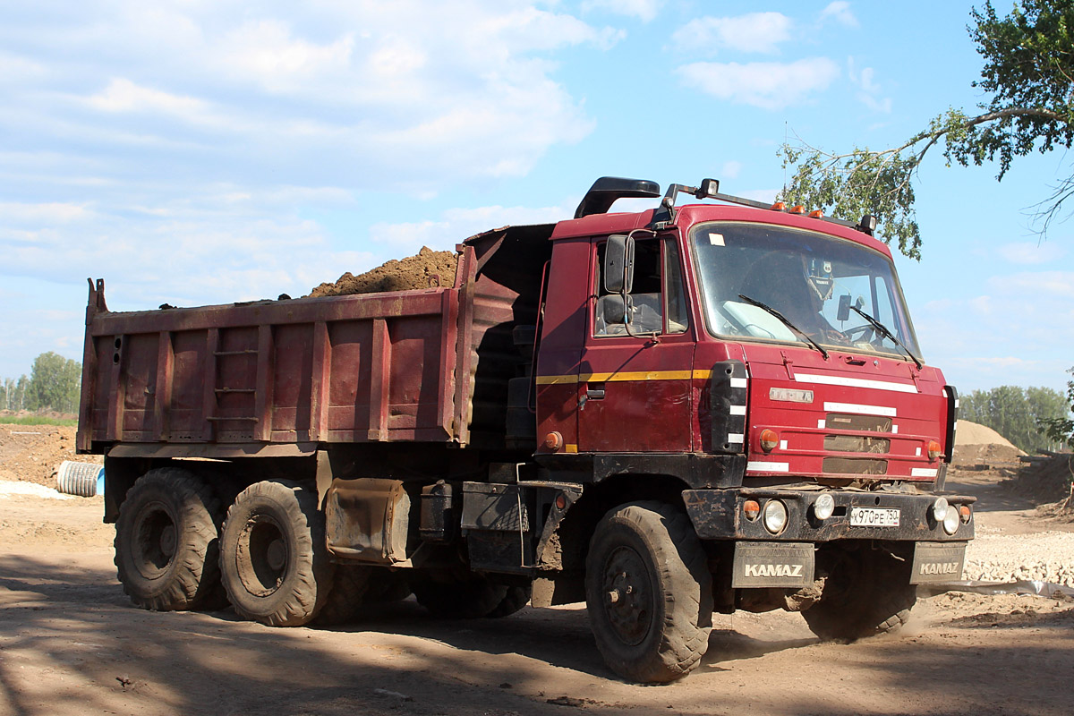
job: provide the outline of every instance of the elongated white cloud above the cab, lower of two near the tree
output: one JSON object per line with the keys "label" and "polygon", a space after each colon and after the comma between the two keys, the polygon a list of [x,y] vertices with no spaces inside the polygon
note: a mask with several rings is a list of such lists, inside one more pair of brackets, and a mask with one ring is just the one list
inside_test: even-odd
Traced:
{"label": "elongated white cloud above the cab, lower of two near the tree", "polygon": [[839,76],[826,57],[794,62],[694,62],[678,69],[687,87],[720,100],[763,109],[781,109],[807,101]]}

